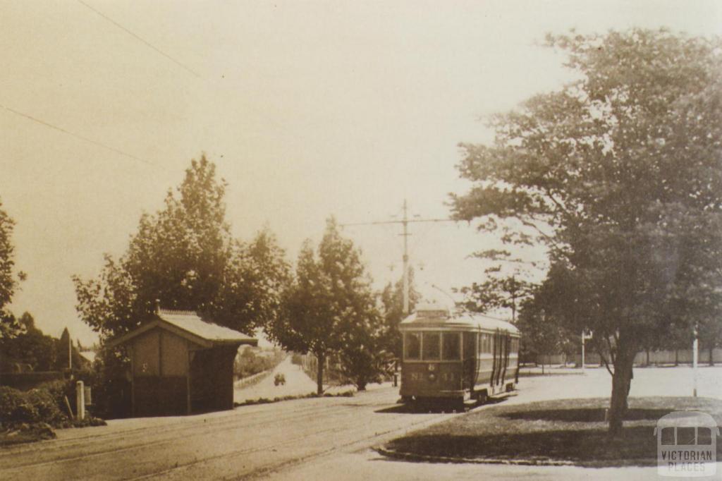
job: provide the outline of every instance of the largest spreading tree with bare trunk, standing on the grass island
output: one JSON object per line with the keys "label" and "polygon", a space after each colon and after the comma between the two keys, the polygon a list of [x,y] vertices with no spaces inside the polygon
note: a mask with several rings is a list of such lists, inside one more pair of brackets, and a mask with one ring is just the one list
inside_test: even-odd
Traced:
{"label": "largest spreading tree with bare trunk, standing on the grass island", "polygon": [[635,353],[669,326],[720,319],[720,42],[665,30],[549,37],[578,80],[495,116],[465,144],[456,217],[521,222],[549,248],[544,308],[592,329],[622,433]]}

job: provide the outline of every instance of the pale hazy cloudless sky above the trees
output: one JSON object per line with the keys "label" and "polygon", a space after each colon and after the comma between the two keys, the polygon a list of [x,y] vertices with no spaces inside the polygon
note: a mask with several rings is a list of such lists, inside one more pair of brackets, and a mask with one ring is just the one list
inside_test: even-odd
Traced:
{"label": "pale hazy cloudless sky above the trees", "polygon": [[[399,220],[406,199],[446,218],[469,188],[459,142],[573,78],[547,32],[721,35],[722,2],[0,0],[0,19],[0,201],[28,275],[10,307],[90,343],[71,276],[123,254],[202,153],[234,235],[268,226],[292,261],[329,215]],[[410,232],[427,293],[483,281],[468,256],[499,246],[465,223]],[[377,287],[401,277],[399,233],[344,228]]]}

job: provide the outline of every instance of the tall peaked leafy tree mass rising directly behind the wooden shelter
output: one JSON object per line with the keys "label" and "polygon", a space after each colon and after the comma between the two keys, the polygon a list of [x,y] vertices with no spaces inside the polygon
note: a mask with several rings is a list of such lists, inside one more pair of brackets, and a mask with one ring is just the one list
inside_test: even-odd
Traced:
{"label": "tall peaked leafy tree mass rising directly behind the wooden shelter", "polygon": [[248,334],[274,316],[284,252],[267,229],[251,243],[232,237],[225,187],[212,162],[193,160],[165,208],[142,215],[126,254],[105,256],[95,279],[73,277],[82,319],[104,336],[123,334],[149,319],[155,300]]}

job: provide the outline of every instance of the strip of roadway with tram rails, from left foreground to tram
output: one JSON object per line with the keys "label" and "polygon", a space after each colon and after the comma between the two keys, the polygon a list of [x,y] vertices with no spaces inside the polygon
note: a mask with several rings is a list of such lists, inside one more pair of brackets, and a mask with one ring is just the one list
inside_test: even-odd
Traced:
{"label": "strip of roadway with tram rails, from left foreground to tram", "polygon": [[[188,417],[118,420],[0,451],[0,479],[244,479],[366,449],[453,414],[394,412],[398,389]],[[389,410],[391,412],[383,412]]]}

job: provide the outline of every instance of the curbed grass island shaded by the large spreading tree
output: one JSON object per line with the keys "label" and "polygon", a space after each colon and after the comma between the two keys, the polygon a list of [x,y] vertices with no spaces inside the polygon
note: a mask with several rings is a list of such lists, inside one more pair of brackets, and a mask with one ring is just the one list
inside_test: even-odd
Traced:
{"label": "curbed grass island shaded by the large spreading tree", "polygon": [[[657,420],[672,411],[707,412],[722,425],[722,401],[692,397],[630,398],[624,437],[606,436],[609,399],[559,399],[504,406],[453,417],[384,446],[401,454],[453,459],[571,462],[588,467],[652,466]],[[722,442],[717,443],[722,459]]]}

